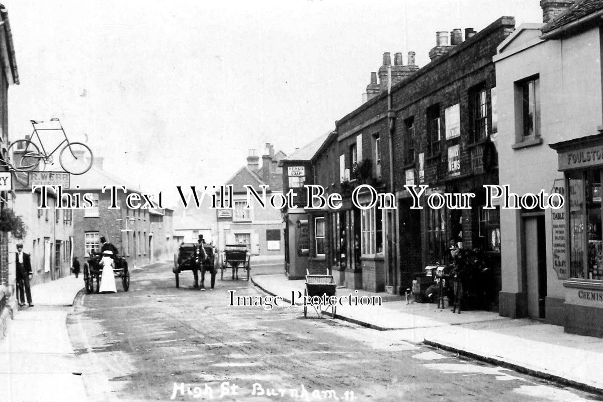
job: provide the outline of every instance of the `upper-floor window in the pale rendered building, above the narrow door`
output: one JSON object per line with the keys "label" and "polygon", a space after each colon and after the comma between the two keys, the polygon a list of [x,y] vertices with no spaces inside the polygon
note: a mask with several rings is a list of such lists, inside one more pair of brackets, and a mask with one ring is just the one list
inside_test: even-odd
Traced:
{"label": "upper-floor window in the pale rendered building, above the narrow door", "polygon": [[531,77],[516,83],[516,93],[519,96],[520,135],[517,140],[540,137],[540,80]]}

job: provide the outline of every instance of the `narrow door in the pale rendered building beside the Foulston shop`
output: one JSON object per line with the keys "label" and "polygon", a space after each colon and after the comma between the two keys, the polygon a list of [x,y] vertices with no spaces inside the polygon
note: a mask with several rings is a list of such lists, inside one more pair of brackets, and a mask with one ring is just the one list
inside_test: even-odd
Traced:
{"label": "narrow door in the pale rendered building beside the Foulston shop", "polygon": [[523,219],[528,316],[545,318],[546,235],[545,216]]}

